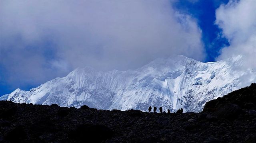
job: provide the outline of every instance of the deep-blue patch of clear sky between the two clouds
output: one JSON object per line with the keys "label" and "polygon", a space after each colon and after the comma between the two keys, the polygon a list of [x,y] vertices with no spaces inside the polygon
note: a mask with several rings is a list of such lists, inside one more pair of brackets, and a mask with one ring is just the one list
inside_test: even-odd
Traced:
{"label": "deep-blue patch of clear sky between the two clouds", "polygon": [[220,55],[220,49],[229,45],[225,37],[218,37],[221,29],[214,24],[215,10],[220,4],[227,4],[228,0],[181,0],[174,4],[174,7],[182,12],[186,12],[197,19],[198,25],[202,29],[202,40],[205,45],[207,57],[206,62],[215,61]]}

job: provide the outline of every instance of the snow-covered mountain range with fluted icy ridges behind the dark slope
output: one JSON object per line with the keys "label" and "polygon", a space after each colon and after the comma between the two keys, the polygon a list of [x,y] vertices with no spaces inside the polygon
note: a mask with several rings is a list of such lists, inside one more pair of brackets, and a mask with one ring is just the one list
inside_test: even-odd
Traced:
{"label": "snow-covered mountain range with fluted icy ridges behind the dark slope", "polygon": [[181,55],[156,59],[128,71],[96,71],[78,68],[66,77],[55,78],[30,91],[16,89],[1,100],[33,104],[58,104],[104,110],[162,106],[173,112],[200,112],[204,104],[250,83],[256,72],[240,68],[242,56],[202,63]]}

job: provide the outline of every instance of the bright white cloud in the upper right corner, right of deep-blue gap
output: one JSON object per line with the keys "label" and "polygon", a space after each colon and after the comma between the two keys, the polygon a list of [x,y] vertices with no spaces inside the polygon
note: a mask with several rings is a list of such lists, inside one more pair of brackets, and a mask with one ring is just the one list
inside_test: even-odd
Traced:
{"label": "bright white cloud in the upper right corner, right of deep-blue gap", "polygon": [[216,10],[216,22],[230,46],[217,58],[242,55],[244,69],[256,70],[256,1],[230,0]]}

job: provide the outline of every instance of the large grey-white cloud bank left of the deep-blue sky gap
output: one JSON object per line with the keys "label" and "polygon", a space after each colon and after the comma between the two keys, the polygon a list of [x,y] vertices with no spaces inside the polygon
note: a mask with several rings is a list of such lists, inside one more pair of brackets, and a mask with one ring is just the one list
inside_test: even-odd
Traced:
{"label": "large grey-white cloud bank left of the deep-blue sky gap", "polygon": [[138,68],[176,53],[203,61],[196,21],[168,1],[1,1],[0,68],[13,86],[76,67]]}

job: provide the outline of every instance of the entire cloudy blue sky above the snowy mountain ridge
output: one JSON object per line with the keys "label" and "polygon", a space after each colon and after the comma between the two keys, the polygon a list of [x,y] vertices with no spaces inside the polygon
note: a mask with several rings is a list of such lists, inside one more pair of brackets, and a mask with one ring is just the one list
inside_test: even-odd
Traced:
{"label": "entire cloudy blue sky above the snowy mountain ridge", "polygon": [[0,1],[0,96],[77,67],[244,56],[256,69],[256,0]]}

